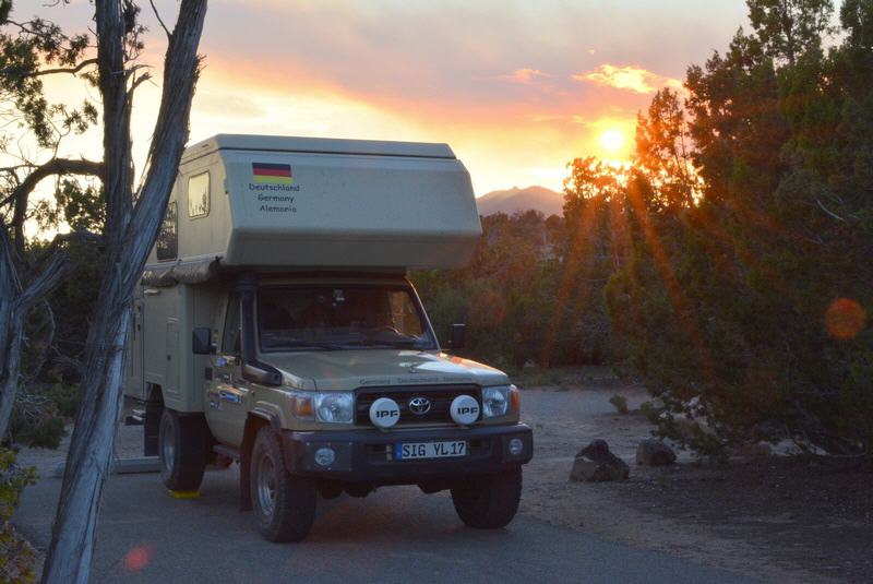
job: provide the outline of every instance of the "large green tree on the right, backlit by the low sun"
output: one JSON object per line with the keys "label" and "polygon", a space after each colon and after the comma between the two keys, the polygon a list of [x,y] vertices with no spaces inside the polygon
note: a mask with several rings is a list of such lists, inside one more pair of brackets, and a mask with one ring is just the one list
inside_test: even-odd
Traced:
{"label": "large green tree on the right, backlit by the low sun", "polygon": [[[748,4],[758,22],[781,10]],[[661,437],[873,458],[873,3],[844,2],[833,44],[833,2],[782,4],[821,26],[741,31],[684,96],[658,92],[623,192],[590,163],[574,176],[619,210],[599,243],[611,331]]]}

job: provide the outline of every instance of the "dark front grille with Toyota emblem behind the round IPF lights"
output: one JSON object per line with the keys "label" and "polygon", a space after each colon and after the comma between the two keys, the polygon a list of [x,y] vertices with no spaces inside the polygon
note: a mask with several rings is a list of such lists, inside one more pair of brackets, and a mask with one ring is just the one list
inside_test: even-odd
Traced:
{"label": "dark front grille with Toyota emblem behind the round IPF lights", "polygon": [[[358,426],[372,426],[370,406],[380,397],[391,397],[400,407],[398,425],[418,424],[454,424],[449,413],[452,401],[458,395],[471,395],[482,405],[482,392],[478,385],[404,385],[395,388],[362,388],[357,390],[355,401],[356,422]],[[430,400],[427,414],[414,414],[409,409],[409,401],[414,397]],[[481,418],[481,414],[479,414]]]}

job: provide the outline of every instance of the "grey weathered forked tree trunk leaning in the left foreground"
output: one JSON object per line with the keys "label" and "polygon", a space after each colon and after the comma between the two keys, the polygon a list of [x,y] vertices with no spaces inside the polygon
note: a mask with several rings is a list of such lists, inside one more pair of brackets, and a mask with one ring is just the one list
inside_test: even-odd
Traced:
{"label": "grey weathered forked tree trunk leaning in the left foreground", "polygon": [[107,269],[97,318],[88,331],[76,417],[44,583],[87,582],[100,494],[121,408],[123,347],[133,289],[154,245],[179,160],[199,71],[196,55],[206,0],[182,0],[164,63],[160,108],[145,180],[133,205],[130,104],[134,84],[124,70],[130,2],[97,0],[99,88],[104,99],[104,187]]}

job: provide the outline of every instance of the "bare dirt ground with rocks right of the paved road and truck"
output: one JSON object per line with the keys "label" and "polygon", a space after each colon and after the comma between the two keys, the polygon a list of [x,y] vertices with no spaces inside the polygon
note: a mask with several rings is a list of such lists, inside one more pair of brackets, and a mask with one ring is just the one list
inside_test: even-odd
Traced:
{"label": "bare dirt ground with rocks right of the paved road and truck", "polygon": [[[536,455],[522,512],[768,582],[873,582],[870,470],[798,456],[701,464],[683,452],[669,467],[637,466],[636,444],[651,430],[641,386],[585,370],[526,377]],[[615,394],[631,412],[615,412]],[[629,480],[569,480],[573,456],[594,438],[627,462]]]}

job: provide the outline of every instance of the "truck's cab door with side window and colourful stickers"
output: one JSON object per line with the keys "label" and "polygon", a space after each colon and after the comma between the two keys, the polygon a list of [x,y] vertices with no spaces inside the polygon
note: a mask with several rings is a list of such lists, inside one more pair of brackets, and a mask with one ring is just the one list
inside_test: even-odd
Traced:
{"label": "truck's cab door with side window and colourful stickers", "polygon": [[249,383],[242,379],[241,342],[239,295],[232,293],[213,361],[213,381],[206,388],[205,408],[213,436],[232,446],[242,443],[248,415]]}

